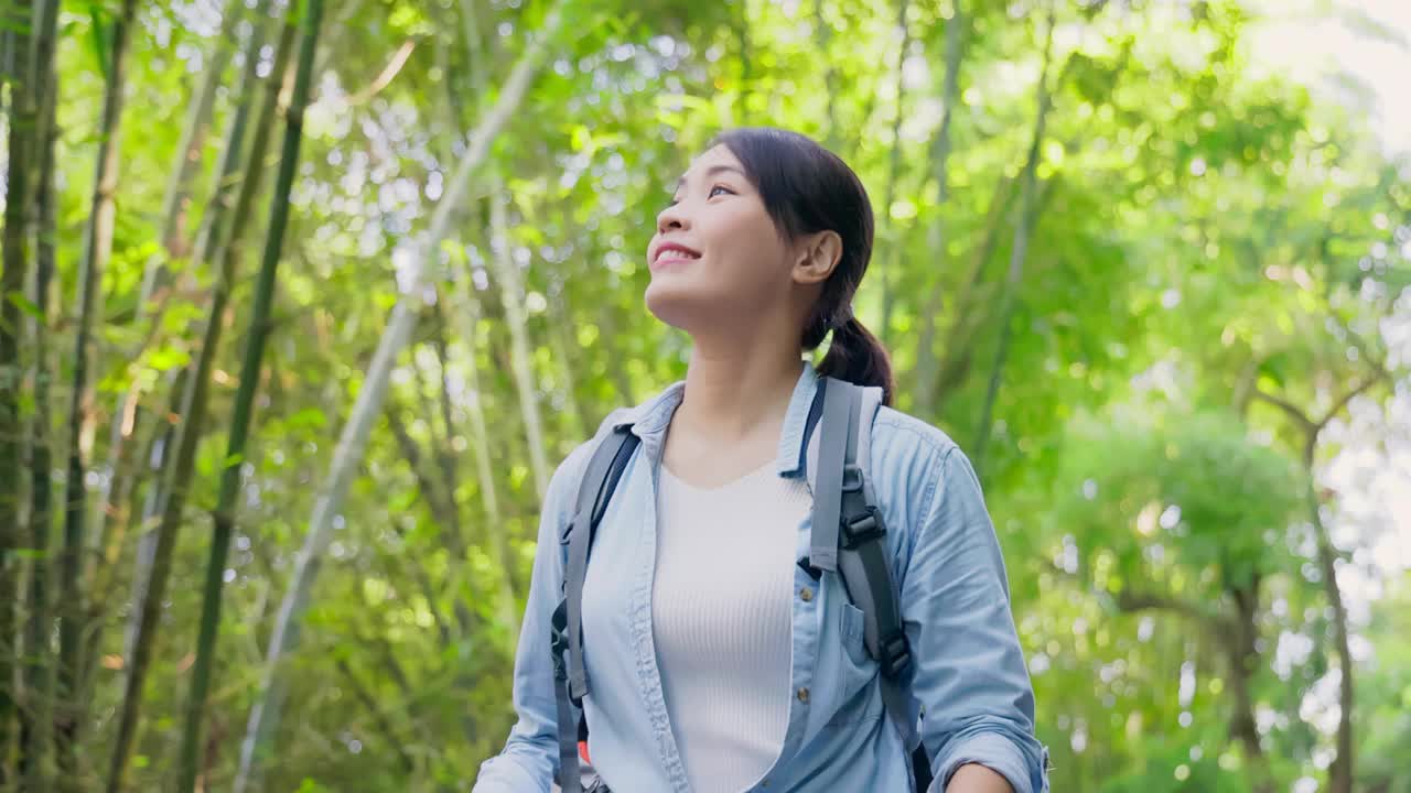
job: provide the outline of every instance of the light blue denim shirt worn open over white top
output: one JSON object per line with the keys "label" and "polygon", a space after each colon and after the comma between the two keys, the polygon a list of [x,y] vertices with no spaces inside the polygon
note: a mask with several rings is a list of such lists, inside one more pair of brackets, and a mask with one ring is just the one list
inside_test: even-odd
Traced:
{"label": "light blue denim shirt worn open over white top", "polygon": [[[801,361],[779,439],[777,474],[806,478],[818,433],[803,449],[818,375]],[[674,382],[602,422],[641,437],[598,526],[583,594],[588,753],[618,793],[690,785],[667,718],[652,643],[656,488],[666,428],[682,402]],[[811,452],[811,453],[810,453]],[[515,655],[519,715],[504,751],[480,768],[474,793],[550,790],[559,765],[549,619],[562,595],[566,547],[591,444],[555,471],[539,525],[523,629]],[[981,763],[1016,793],[1048,790],[1048,752],[1034,737],[1034,696],[1009,605],[995,528],[969,460],[940,429],[888,406],[878,409],[868,474],[888,526],[892,574],[912,643],[913,715],[943,793],[962,763]],[[806,480],[807,481],[807,480]],[[796,559],[809,553],[811,516],[797,528]],[[913,790],[912,763],[888,718],[878,665],[862,641],[862,612],[832,571],[814,580],[794,566],[789,720],[783,746],[749,793]]]}

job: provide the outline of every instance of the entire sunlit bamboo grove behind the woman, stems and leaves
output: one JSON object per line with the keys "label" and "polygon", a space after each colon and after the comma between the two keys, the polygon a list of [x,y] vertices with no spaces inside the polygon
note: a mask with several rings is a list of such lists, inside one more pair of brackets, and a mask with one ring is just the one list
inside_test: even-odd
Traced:
{"label": "entire sunlit bamboo grove behind the woman, stems and leaves", "polygon": [[1055,790],[1411,792],[1411,164],[1259,24],[0,0],[0,792],[468,789],[739,124],[868,186],[858,310],[982,476]]}

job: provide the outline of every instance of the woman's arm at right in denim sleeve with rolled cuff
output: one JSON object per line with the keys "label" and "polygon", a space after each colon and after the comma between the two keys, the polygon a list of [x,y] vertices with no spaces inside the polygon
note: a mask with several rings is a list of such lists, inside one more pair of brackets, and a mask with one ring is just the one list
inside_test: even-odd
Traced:
{"label": "woman's arm at right in denim sleeve with rolled cuff", "polygon": [[965,454],[954,443],[937,454],[902,577],[931,793],[1041,793],[1047,751],[1034,738],[1034,694],[995,526]]}

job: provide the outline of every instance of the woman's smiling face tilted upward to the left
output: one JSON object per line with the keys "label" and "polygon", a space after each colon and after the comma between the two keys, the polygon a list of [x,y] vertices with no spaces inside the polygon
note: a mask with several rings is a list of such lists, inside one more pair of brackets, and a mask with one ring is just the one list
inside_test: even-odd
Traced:
{"label": "woman's smiling face tilted upward to the left", "polygon": [[656,217],[646,308],[687,333],[748,330],[790,305],[792,246],[724,145],[701,154]]}

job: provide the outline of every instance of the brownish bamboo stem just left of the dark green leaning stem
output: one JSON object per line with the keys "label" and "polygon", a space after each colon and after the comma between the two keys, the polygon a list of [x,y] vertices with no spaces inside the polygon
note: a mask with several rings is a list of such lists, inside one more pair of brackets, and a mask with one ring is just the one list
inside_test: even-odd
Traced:
{"label": "brownish bamboo stem just left of the dark green leaning stem", "polygon": [[[317,6],[319,1],[313,0]],[[306,11],[313,16],[315,11]],[[285,23],[284,34],[279,40],[279,49],[275,55],[271,78],[285,72],[289,49],[293,41],[293,16]],[[308,24],[308,23],[306,23]],[[312,59],[312,55],[310,55]],[[310,61],[312,62],[312,61]],[[302,61],[301,61],[302,65]],[[119,715],[117,735],[113,741],[113,758],[109,765],[107,790],[117,793],[123,787],[123,776],[127,772],[127,759],[131,755],[137,721],[141,713],[143,683],[147,679],[147,669],[151,663],[152,648],[158,624],[161,621],[162,600],[166,597],[166,581],[171,577],[172,553],[176,549],[176,533],[181,528],[182,511],[186,505],[186,492],[190,487],[192,471],[196,463],[196,447],[200,443],[202,425],[206,418],[206,402],[210,388],[210,370],[220,349],[220,336],[224,329],[226,309],[230,302],[230,292],[236,284],[236,265],[243,253],[240,237],[244,231],[246,220],[250,216],[254,196],[260,186],[260,174],[264,171],[264,151],[268,147],[270,128],[275,107],[279,99],[279,80],[271,79],[261,107],[261,120],[255,128],[255,140],[251,143],[248,168],[246,179],[240,185],[240,198],[231,216],[227,238],[222,244],[220,272],[216,277],[216,289],[212,295],[210,312],[206,319],[206,329],[200,344],[200,357],[182,394],[181,426],[176,430],[176,454],[166,467],[162,477],[161,491],[162,518],[157,528],[157,542],[152,549],[151,576],[144,587],[140,607],[137,610],[137,631],[131,642],[127,659],[127,684],[123,694],[123,704]],[[285,168],[293,164],[281,162],[281,176]],[[275,203],[279,198],[275,196]],[[238,471],[238,467],[237,467]]]}

